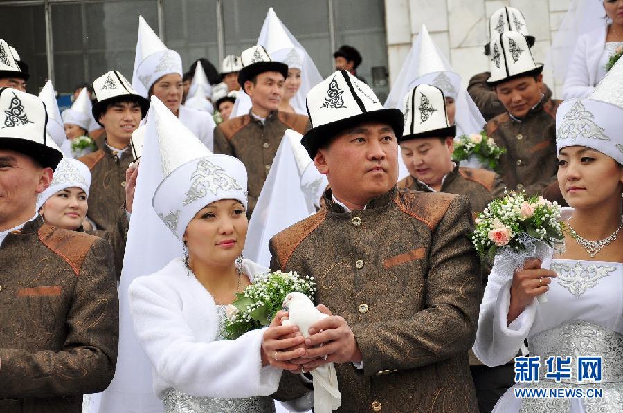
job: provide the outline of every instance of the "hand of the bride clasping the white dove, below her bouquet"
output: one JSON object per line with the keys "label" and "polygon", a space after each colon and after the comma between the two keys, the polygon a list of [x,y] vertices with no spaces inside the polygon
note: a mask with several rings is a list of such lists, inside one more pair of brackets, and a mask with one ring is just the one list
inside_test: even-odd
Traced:
{"label": "hand of the bride clasping the white dove, below her bouquet", "polygon": [[[292,364],[289,360],[299,358],[305,354],[304,347],[298,347],[305,342],[303,334],[295,325],[281,325],[281,319],[287,318],[288,313],[279,311],[269,328],[264,331],[262,338],[262,366],[271,365],[278,369],[296,371],[300,365]],[[296,347],[291,349],[291,347]]]}

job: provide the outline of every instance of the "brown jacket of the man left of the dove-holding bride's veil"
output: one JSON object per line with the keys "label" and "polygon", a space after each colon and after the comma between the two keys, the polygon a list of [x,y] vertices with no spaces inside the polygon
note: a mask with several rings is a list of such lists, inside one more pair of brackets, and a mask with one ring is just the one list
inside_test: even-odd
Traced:
{"label": "brown jacket of the man left of the dove-holding bride's veil", "polygon": [[104,145],[78,160],[91,170],[87,218],[97,226],[93,233],[105,238],[116,227],[119,208],[125,205],[125,171],[132,162],[132,151],[125,149],[119,159]]}

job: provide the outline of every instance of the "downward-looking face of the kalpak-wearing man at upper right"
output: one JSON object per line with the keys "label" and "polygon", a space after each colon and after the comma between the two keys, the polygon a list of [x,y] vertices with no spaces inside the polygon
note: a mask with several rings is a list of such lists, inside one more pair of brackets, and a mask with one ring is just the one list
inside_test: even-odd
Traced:
{"label": "downward-looking face of the kalpak-wearing man at upper right", "polygon": [[498,84],[495,90],[506,110],[516,118],[523,118],[541,100],[541,86],[543,75],[536,80],[534,77],[518,77]]}

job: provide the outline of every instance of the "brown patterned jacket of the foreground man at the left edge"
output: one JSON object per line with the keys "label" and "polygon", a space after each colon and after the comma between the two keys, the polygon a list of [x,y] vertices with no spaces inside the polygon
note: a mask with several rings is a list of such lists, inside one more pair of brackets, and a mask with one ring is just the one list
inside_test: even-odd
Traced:
{"label": "brown patterned jacket of the foreground man at the left edge", "polygon": [[0,246],[0,412],[80,413],[114,376],[117,283],[107,241],[41,217]]}

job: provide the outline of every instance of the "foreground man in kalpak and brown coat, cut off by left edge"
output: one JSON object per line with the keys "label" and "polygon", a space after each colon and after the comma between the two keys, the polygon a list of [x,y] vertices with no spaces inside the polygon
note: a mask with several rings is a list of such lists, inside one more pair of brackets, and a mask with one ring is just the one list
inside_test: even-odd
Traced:
{"label": "foreground man in kalpak and brown coat, cut off by left edge", "polygon": [[3,413],[80,413],[82,395],[106,389],[116,366],[111,246],[35,214],[37,194],[62,158],[46,145],[45,113],[35,96],[0,89]]}

